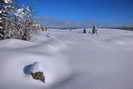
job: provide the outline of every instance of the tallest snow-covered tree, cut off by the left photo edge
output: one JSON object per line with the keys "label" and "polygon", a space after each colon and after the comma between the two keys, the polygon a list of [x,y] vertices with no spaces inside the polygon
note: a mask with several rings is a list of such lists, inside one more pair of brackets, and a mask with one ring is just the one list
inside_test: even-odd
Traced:
{"label": "tallest snow-covered tree, cut off by the left photo edge", "polygon": [[[13,10],[12,0],[0,0],[0,39],[10,38],[11,31],[11,17]],[[10,27],[9,27],[10,26]],[[10,28],[10,29],[9,29]]]}

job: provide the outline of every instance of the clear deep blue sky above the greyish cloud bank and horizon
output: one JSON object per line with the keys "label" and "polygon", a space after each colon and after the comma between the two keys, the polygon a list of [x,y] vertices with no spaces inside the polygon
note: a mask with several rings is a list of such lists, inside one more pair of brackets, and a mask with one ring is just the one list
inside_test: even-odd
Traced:
{"label": "clear deep blue sky above the greyish cloud bank and horizon", "polygon": [[133,0],[18,0],[35,16],[98,25],[133,25]]}

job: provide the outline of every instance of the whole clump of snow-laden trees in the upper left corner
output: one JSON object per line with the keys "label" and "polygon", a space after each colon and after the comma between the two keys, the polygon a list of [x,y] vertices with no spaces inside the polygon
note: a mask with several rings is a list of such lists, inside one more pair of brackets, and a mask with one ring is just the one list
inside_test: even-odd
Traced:
{"label": "whole clump of snow-laden trees in the upper left corner", "polygon": [[31,9],[19,8],[15,0],[0,0],[0,40],[30,40],[33,20]]}

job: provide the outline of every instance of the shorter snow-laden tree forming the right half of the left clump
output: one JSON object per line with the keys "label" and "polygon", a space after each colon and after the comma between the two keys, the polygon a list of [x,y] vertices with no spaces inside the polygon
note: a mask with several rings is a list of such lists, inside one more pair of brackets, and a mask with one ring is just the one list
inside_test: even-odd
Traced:
{"label": "shorter snow-laden tree forming the right half of the left clump", "polygon": [[16,10],[16,23],[18,27],[19,39],[30,40],[31,33],[33,29],[33,19],[32,19],[32,10],[30,7],[27,8],[18,8]]}

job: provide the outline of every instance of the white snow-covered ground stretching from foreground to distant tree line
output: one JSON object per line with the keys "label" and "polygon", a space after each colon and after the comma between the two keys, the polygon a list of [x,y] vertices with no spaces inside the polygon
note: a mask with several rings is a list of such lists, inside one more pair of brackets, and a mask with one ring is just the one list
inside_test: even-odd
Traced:
{"label": "white snow-covered ground stretching from foreground to distant tree line", "polygon": [[[133,89],[133,32],[99,29],[97,35],[50,29],[30,42],[0,41],[0,89]],[[39,63],[46,83],[25,66]]]}

